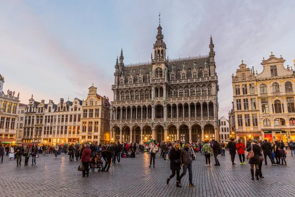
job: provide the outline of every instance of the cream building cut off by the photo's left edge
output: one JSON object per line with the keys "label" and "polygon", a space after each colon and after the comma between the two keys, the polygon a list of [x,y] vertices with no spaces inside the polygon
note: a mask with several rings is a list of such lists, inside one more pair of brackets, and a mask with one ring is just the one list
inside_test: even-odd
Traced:
{"label": "cream building cut off by the photo's left edge", "polygon": [[3,92],[4,77],[0,74],[0,141],[1,143],[16,142],[17,111],[20,102],[20,94],[8,90]]}

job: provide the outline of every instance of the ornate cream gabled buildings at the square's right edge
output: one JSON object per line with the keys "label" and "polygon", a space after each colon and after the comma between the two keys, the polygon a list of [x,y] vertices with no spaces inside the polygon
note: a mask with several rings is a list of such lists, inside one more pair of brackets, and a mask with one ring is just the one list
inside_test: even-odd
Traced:
{"label": "ornate cream gabled buildings at the square's right edge", "polygon": [[267,60],[263,58],[261,73],[244,64],[237,69],[233,76],[237,137],[295,140],[295,74],[284,62],[271,52]]}

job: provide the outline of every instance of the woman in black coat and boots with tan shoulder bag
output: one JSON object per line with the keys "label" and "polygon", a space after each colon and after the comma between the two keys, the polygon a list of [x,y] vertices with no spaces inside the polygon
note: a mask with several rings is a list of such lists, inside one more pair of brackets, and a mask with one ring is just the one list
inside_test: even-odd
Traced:
{"label": "woman in black coat and boots with tan shoulder bag", "polygon": [[252,180],[254,180],[254,166],[256,179],[259,180],[259,155],[261,151],[256,139],[253,139],[252,144],[247,148],[247,152],[250,151],[253,151],[254,153],[254,157],[249,159]]}

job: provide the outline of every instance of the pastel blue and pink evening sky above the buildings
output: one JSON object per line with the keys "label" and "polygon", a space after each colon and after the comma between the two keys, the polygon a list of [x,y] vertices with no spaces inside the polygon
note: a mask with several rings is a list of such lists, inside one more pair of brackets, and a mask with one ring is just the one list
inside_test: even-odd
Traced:
{"label": "pastel blue and pink evening sky above the buildings", "polygon": [[270,52],[295,59],[293,0],[2,0],[0,74],[3,92],[20,92],[22,103],[86,99],[97,93],[113,100],[116,58],[148,62],[161,12],[169,58],[208,55],[215,45],[219,117],[232,108],[232,74],[244,61],[262,71]]}

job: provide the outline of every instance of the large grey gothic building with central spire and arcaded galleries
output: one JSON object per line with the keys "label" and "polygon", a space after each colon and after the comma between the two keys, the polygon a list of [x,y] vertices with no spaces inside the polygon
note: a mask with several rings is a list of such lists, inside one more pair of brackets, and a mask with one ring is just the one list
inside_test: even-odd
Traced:
{"label": "large grey gothic building with central spire and arcaded galleries", "polygon": [[212,37],[209,55],[166,58],[159,25],[151,61],[115,65],[111,134],[114,141],[143,143],[150,139],[201,142],[217,135],[218,78]]}

